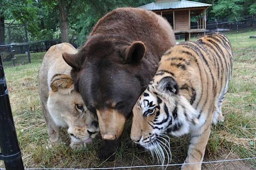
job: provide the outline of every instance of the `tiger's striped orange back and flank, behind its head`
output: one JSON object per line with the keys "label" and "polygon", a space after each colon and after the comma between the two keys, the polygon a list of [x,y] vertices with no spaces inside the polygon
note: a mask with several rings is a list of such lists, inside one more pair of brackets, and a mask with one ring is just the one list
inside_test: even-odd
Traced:
{"label": "tiger's striped orange back and flank, behind its head", "polygon": [[[232,67],[233,54],[228,38],[224,34],[213,33],[171,48],[162,56],[157,72],[172,71],[182,84],[181,93],[185,96],[192,93],[189,100],[200,112],[198,119],[215,109],[213,124],[216,124],[224,119],[221,104],[228,91]],[[212,103],[214,107],[211,107]]]}

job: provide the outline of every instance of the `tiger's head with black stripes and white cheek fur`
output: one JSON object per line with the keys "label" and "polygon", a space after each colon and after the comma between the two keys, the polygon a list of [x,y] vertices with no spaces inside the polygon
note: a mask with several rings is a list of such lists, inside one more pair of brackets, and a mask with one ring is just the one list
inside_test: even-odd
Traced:
{"label": "tiger's head with black stripes and white cheek fur", "polygon": [[197,111],[166,73],[153,78],[132,111],[131,139],[149,150],[158,145],[163,134],[184,135],[198,122]]}

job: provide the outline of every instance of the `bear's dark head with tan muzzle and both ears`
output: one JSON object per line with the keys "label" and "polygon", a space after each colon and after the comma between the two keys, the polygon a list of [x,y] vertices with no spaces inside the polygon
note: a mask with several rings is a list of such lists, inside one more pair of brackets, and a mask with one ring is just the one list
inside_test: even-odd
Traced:
{"label": "bear's dark head with tan muzzle and both ears", "polygon": [[[146,46],[126,36],[96,34],[77,54],[66,54],[75,89],[87,108],[97,113],[103,139],[120,137],[132,107],[154,73],[145,60]],[[151,68],[153,67],[153,68]]]}

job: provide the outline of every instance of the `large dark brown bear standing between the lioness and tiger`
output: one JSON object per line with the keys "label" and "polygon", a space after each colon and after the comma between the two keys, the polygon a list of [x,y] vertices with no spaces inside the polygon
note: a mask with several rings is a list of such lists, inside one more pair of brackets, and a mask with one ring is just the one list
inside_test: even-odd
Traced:
{"label": "large dark brown bear standing between the lioness and tiger", "polygon": [[76,90],[98,116],[106,140],[99,158],[109,158],[120,145],[132,107],[154,76],[160,57],[174,45],[173,30],[161,16],[118,8],[98,21],[77,54],[62,54],[73,67]]}

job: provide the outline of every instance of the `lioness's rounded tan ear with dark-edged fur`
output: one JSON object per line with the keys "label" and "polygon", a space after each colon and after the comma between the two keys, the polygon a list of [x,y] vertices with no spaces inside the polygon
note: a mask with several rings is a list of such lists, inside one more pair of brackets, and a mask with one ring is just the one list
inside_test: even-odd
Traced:
{"label": "lioness's rounded tan ear with dark-edged fur", "polygon": [[66,74],[54,75],[50,86],[53,92],[60,92],[61,94],[70,94],[74,89],[73,79]]}

